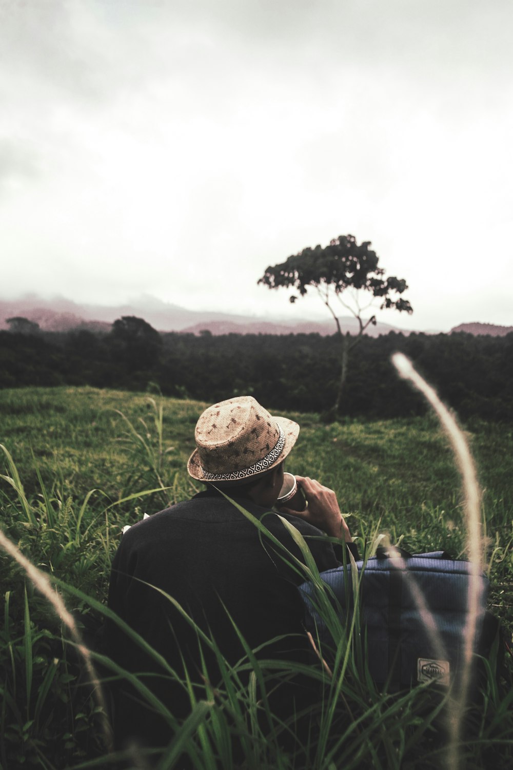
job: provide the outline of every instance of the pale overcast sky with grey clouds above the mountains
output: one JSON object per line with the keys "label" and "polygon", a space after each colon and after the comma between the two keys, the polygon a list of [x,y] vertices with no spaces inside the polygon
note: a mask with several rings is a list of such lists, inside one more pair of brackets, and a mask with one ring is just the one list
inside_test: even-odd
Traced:
{"label": "pale overcast sky with grey clouds above the mountains", "polygon": [[0,296],[327,317],[256,282],[351,233],[386,323],[513,325],[511,0],[0,0]]}

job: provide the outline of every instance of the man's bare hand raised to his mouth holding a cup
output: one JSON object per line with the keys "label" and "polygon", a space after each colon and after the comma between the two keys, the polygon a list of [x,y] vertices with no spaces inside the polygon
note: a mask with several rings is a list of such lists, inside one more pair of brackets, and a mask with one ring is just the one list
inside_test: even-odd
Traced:
{"label": "man's bare hand raised to his mouth holding a cup", "polygon": [[351,533],[338,507],[335,492],[308,476],[296,476],[296,480],[308,503],[305,511],[292,511],[291,508],[285,507],[280,507],[280,511],[308,521],[330,537],[340,537],[346,543],[352,543]]}

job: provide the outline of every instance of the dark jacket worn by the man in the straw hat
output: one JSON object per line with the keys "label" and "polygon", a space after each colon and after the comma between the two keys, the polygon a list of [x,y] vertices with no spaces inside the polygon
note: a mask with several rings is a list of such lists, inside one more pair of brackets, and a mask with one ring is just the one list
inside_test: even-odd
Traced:
{"label": "dark jacket worn by the man in the straw hat", "polygon": [[[298,546],[277,515],[249,500],[238,503],[303,561]],[[335,554],[321,531],[298,517],[282,515],[307,538],[319,570],[340,563],[341,549]],[[165,657],[178,677],[183,677],[185,667],[192,681],[200,684],[205,672],[198,634],[155,588],[181,605],[198,627],[215,640],[230,665],[245,655],[232,620],[251,649],[275,640],[262,649],[261,658],[307,662],[309,645],[296,588],[305,575],[298,574],[283,555],[268,537],[259,535],[255,524],[234,504],[215,491],[202,492],[127,531],[112,564],[108,606]],[[282,638],[284,635],[286,638]],[[215,684],[219,676],[215,655],[208,644],[201,647],[208,678]],[[145,681],[178,718],[188,713],[185,688],[164,678],[162,668],[128,641],[112,621],[105,628],[105,652],[128,671],[158,674]],[[205,697],[204,692],[199,695],[202,696]],[[144,709],[136,708],[125,695],[120,697],[119,691],[115,700],[118,738],[139,731],[146,742],[167,741],[166,735],[148,735],[148,725],[155,725],[155,721],[145,721]]]}

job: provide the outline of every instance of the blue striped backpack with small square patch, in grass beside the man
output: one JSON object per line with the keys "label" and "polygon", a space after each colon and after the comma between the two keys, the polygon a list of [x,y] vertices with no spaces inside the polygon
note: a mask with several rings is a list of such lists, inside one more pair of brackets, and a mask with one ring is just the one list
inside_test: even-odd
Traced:
{"label": "blue striped backpack with small square patch, in grass beside the man", "polygon": [[[471,563],[445,551],[408,554],[400,548],[378,548],[375,557],[357,561],[360,623],[357,632],[376,685],[388,691],[436,679],[438,685],[458,681],[468,628]],[[345,623],[351,622],[355,593],[351,565],[321,572],[331,589],[331,604]],[[486,611],[488,578],[479,574],[478,617],[474,652],[487,655],[498,633],[498,621]],[[315,588],[300,588],[305,626],[321,644],[323,658],[333,657],[331,638],[315,601]],[[474,657],[474,661],[477,659]]]}

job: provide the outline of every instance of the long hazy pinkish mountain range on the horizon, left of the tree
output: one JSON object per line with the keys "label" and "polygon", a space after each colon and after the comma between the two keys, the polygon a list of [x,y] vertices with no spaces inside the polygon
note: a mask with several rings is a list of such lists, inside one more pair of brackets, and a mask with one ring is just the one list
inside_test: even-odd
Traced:
{"label": "long hazy pinkish mountain range on the horizon, left of the tree", "polygon": [[[187,310],[178,305],[161,302],[154,297],[142,296],[130,304],[121,306],[82,305],[63,297],[43,300],[31,294],[19,300],[0,299],[0,329],[8,329],[7,319],[22,316],[38,323],[42,331],[67,332],[90,330],[107,333],[112,323],[121,316],[144,318],[154,329],[161,332],[181,331],[198,334],[208,330],[212,334],[298,334],[319,333],[323,336],[335,332],[332,320],[309,321],[298,319],[294,323],[276,318],[237,316],[230,313],[216,313]],[[358,322],[355,318],[341,318],[342,330],[356,333]],[[388,334],[390,331],[409,334],[397,326],[377,323],[368,327],[369,336]]]}

